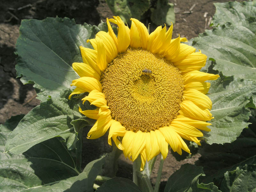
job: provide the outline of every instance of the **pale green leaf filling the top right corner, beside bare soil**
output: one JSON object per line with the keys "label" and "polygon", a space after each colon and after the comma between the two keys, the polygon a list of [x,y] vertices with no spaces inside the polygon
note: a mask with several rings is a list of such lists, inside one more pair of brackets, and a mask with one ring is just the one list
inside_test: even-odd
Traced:
{"label": "pale green leaf filling the top right corner, beside bare soil", "polygon": [[216,12],[213,16],[213,24],[230,22],[236,24],[250,16],[256,17],[256,1],[214,3]]}

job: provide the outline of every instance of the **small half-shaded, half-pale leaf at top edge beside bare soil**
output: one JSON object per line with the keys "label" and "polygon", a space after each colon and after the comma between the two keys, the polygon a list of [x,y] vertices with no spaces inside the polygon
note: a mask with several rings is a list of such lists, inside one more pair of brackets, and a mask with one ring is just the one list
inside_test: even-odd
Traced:
{"label": "small half-shaded, half-pale leaf at top edge beside bare soil", "polygon": [[156,9],[151,8],[150,19],[156,25],[171,25],[175,23],[174,4],[167,0],[157,0]]}

